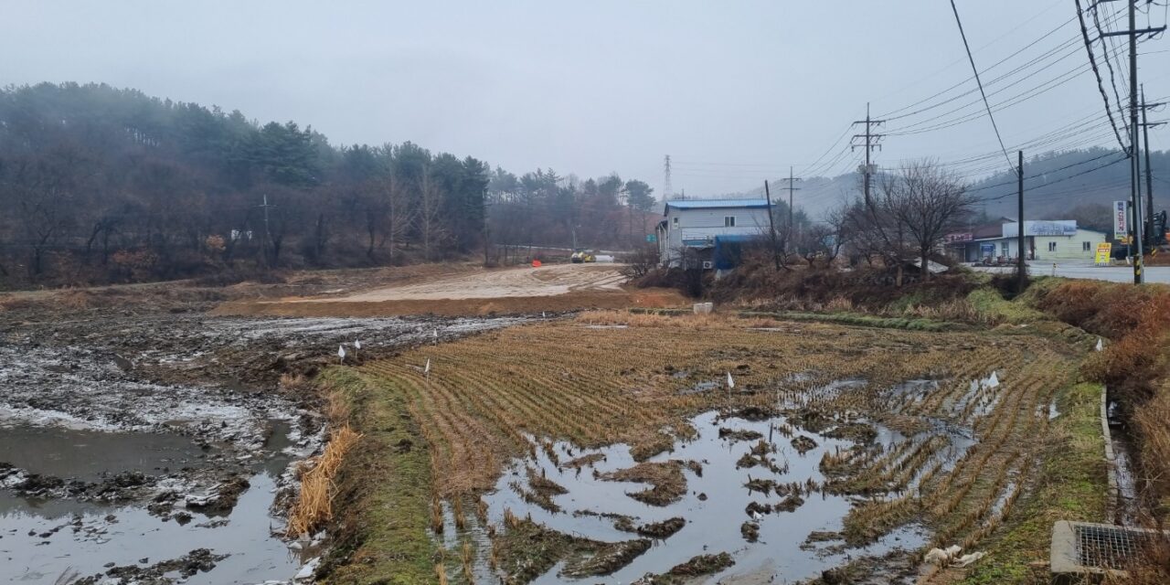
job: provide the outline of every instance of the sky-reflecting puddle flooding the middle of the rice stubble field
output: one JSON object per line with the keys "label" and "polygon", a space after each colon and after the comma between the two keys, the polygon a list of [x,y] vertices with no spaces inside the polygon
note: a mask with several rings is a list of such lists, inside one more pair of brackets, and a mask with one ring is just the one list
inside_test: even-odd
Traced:
{"label": "sky-reflecting puddle flooding the middle of the rice stubble field", "polygon": [[[842,380],[826,391],[835,392],[853,385],[856,380]],[[736,564],[711,577],[711,583],[755,572],[762,566],[776,574],[799,579],[815,576],[859,555],[913,550],[925,542],[921,530],[913,525],[894,530],[866,548],[847,549],[840,539],[814,544],[806,542],[813,532],[835,532],[842,528],[841,519],[848,514],[854,498],[821,493],[815,487],[810,490],[808,487],[826,481],[819,469],[823,456],[851,449],[855,447],[854,442],[803,429],[796,429],[791,435],[775,433],[777,428],[793,428],[784,417],[744,420],[720,418],[718,413],[708,412],[695,417],[690,424],[697,431],[694,439],[680,441],[673,450],[648,460],[651,463],[677,464],[686,477],[686,491],[666,505],[651,505],[641,500],[640,493],[645,494],[651,484],[606,479],[608,474],[636,464],[627,446],[581,449],[559,442],[553,445],[552,450],[562,464],[555,463],[543,449],[536,449],[534,459],[516,461],[501,477],[496,490],[484,496],[489,523],[500,525],[507,509],[517,516],[530,515],[535,522],[564,534],[619,542],[639,538],[628,531],[631,525],[675,517],[686,519],[676,534],[656,541],[631,564],[601,579],[606,583],[629,583],[647,572],[666,572],[697,555],[723,551],[731,553]],[[892,429],[876,425],[875,428],[878,438],[874,442],[882,445],[883,449],[893,448],[895,441],[906,440]],[[770,433],[775,442],[766,446]],[[758,463],[749,466],[751,459]],[[569,464],[574,460],[587,462]],[[530,474],[530,469],[534,473]],[[531,476],[544,477],[567,490],[551,496],[560,511],[549,511],[525,500],[524,491],[531,489]],[[800,488],[794,487],[797,484]],[[628,517],[628,521],[615,522],[621,517]],[[753,524],[755,542],[744,536],[746,523]],[[559,576],[553,569],[535,583],[565,581],[573,579]],[[598,578],[581,581],[594,583]]]}

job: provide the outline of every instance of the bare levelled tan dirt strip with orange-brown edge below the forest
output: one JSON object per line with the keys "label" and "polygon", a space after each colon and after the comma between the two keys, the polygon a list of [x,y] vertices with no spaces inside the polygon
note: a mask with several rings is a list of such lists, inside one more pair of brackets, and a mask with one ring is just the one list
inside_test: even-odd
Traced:
{"label": "bare levelled tan dirt strip with orange-brown edge below the forest", "polygon": [[555,264],[414,278],[347,296],[234,301],[216,315],[372,317],[488,315],[684,304],[670,290],[629,289],[620,264]]}

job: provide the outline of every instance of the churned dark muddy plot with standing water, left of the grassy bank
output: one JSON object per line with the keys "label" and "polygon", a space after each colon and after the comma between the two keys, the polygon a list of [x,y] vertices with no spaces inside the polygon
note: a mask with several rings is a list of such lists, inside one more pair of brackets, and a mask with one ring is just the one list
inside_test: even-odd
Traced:
{"label": "churned dark muddy plot with standing water, left of the grassy bank", "polygon": [[342,345],[356,363],[524,319],[208,311],[290,289],[358,291],[378,274],[0,296],[0,581],[311,573],[302,564],[321,543],[282,538],[294,467],[324,435],[307,377]]}

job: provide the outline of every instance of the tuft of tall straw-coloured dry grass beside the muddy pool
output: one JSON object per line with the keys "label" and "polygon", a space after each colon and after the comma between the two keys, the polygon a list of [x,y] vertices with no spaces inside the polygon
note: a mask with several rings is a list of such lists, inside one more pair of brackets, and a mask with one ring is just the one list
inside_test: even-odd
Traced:
{"label": "tuft of tall straw-coloured dry grass beside the muddy pool", "polygon": [[325,452],[301,469],[301,494],[289,511],[288,535],[296,537],[311,534],[333,517],[333,496],[337,493],[333,480],[345,459],[362,435],[349,426],[330,436]]}

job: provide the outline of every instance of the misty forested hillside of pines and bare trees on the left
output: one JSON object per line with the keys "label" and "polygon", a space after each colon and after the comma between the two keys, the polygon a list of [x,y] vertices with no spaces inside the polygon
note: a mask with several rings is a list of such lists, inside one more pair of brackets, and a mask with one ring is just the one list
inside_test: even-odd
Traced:
{"label": "misty forested hillside of pines and bare trees on the left", "polygon": [[[522,176],[411,142],[104,84],[0,91],[0,285],[441,260],[501,245],[628,247],[653,190]],[[647,213],[649,212],[649,213]]]}

